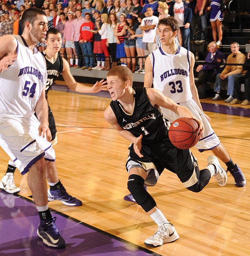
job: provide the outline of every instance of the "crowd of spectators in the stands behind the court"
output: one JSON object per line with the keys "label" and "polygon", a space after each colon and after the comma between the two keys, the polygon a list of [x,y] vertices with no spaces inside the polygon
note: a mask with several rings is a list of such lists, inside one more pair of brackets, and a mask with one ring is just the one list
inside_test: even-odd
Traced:
{"label": "crowd of spectators in the stands behind the court", "polygon": [[[237,99],[233,96],[234,80],[242,75],[243,67],[224,68],[225,56],[218,49],[223,38],[223,0],[0,0],[0,36],[21,35],[22,14],[28,8],[44,10],[48,28],[60,31],[60,54],[70,67],[89,71],[109,70],[119,63],[132,72],[143,74],[145,56],[161,46],[157,30],[159,19],[173,16],[178,21],[178,44],[188,50],[198,30],[203,33],[195,43],[205,42],[210,21],[214,41],[209,44],[205,62],[217,65],[197,67],[199,94],[203,95],[207,82],[212,81],[216,92],[213,100],[221,99],[222,81],[228,80],[226,102]],[[46,45],[39,43],[37,48],[43,51]],[[245,61],[244,54],[238,54],[238,43],[233,43],[231,50],[228,63]]]}

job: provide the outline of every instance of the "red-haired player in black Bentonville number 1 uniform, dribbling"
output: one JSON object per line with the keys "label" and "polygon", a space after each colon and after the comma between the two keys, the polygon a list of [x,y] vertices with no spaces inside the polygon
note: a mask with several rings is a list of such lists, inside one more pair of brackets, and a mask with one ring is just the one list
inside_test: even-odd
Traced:
{"label": "red-haired player in black Bentonville number 1 uniform, dribbling", "polygon": [[132,144],[126,163],[128,189],[158,225],[155,235],[145,240],[148,246],[160,246],[179,238],[178,233],[144,185],[156,184],[164,168],[178,175],[188,190],[200,192],[212,176],[220,186],[227,182],[227,174],[215,156],[208,157],[208,166],[199,170],[190,150],[173,146],[168,137],[168,126],[159,107],[163,106],[180,115],[195,119],[204,131],[203,123],[187,108],[176,104],[153,88],[132,87],[132,72],[123,66],[112,68],[107,74],[107,89],[112,101],[104,117],[117,132]]}

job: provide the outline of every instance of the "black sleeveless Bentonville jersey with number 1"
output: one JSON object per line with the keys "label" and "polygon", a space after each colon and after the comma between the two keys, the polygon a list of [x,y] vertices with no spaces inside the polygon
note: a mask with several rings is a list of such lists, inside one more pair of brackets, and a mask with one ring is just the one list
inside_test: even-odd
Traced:
{"label": "black sleeveless Bentonville jersey with number 1", "polygon": [[143,134],[143,144],[160,141],[168,136],[168,128],[161,112],[151,105],[146,88],[134,88],[135,108],[132,114],[123,111],[119,101],[111,101],[110,106],[122,129],[135,137]]}

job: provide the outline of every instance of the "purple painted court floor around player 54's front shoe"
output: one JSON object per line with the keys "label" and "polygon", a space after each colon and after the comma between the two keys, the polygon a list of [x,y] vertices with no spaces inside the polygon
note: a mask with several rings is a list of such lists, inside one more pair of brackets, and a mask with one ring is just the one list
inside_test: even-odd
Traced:
{"label": "purple painted court floor around player 54's front shoe", "polygon": [[0,191],[0,255],[11,256],[147,256],[156,255],[148,249],[91,227],[52,210],[66,247],[45,246],[37,236],[39,217],[34,203],[19,195]]}

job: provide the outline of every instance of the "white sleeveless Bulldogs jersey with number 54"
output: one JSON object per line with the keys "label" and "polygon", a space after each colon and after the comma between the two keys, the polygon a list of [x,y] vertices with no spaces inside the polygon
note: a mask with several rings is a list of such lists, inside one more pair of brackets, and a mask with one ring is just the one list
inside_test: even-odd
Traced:
{"label": "white sleeveless Bulldogs jersey with number 54", "polygon": [[17,60],[0,74],[0,115],[31,117],[47,80],[45,60],[34,48],[34,54],[20,36]]}

